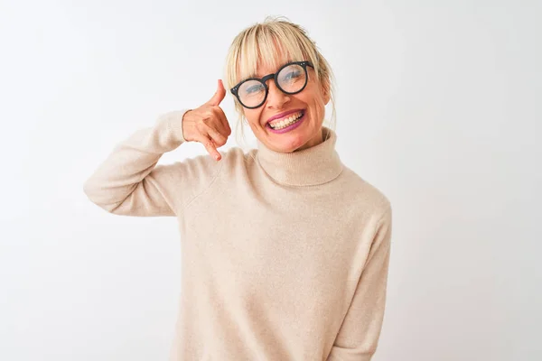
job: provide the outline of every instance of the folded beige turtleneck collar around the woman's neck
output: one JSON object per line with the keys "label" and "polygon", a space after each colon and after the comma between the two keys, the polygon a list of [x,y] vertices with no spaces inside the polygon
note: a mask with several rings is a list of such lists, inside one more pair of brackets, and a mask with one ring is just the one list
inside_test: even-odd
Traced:
{"label": "folded beige turtleneck collar around the woman's neck", "polygon": [[257,140],[257,162],[271,178],[288,186],[313,186],[334,180],[342,171],[335,150],[337,134],[322,126],[322,135],[322,143],[294,153],[275,152]]}

